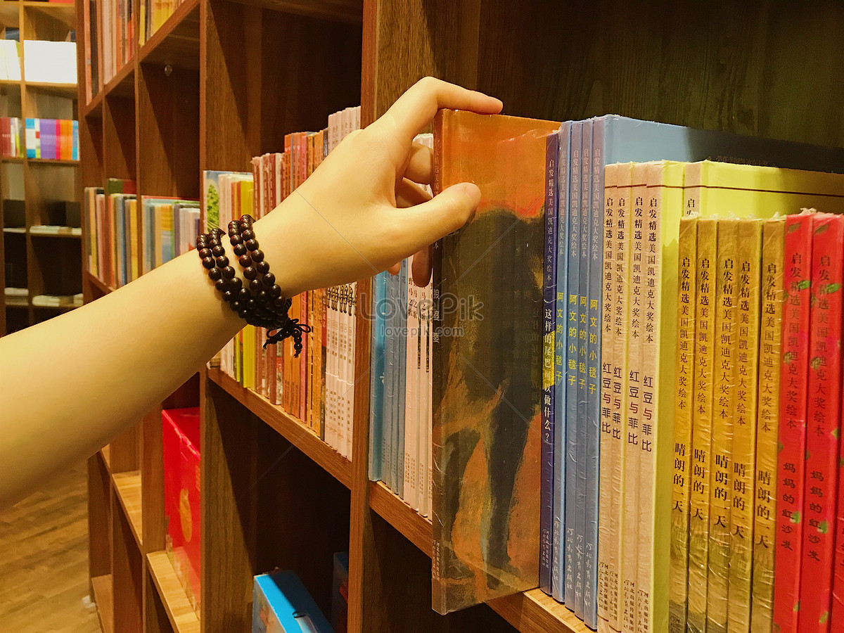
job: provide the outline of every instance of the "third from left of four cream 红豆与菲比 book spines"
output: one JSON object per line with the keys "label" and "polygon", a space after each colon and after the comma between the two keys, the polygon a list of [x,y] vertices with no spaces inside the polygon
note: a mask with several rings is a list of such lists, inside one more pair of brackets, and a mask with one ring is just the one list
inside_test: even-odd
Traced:
{"label": "third from left of four cream \u7ea2\u8c46\u4e0e\u83f2\u6bd4 book spines", "polygon": [[644,258],[647,197],[647,163],[633,165],[630,185],[630,266],[626,282],[630,287],[627,318],[630,323],[625,376],[627,378],[627,403],[624,416],[624,482],[625,495],[622,503],[622,531],[625,534],[621,552],[622,576],[622,618],[623,633],[636,633],[636,591],[639,569],[639,470],[641,462],[641,406],[642,406],[642,337],[644,327]]}

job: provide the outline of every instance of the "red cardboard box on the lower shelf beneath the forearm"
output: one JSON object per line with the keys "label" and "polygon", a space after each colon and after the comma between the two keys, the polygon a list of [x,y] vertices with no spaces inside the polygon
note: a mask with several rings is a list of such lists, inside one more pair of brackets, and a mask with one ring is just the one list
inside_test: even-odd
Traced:
{"label": "red cardboard box on the lower shelf beneath the forearm", "polygon": [[199,408],[161,413],[167,553],[193,609],[199,612]]}

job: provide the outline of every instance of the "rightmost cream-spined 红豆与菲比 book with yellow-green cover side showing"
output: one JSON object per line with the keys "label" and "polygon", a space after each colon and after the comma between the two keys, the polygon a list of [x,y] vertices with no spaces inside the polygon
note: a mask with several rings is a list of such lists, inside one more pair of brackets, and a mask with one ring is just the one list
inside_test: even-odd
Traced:
{"label": "rightmost cream-spined \u7ea2\u8c46\u4e0e\u83f2\u6bd4 book with yellow-green cover side showing", "polygon": [[646,174],[636,574],[636,628],[640,633],[668,628],[669,549],[665,545],[671,538],[671,456],[677,370],[677,332],[673,325],[678,306],[678,235],[683,215],[684,166],[680,162],[660,161],[648,165]]}

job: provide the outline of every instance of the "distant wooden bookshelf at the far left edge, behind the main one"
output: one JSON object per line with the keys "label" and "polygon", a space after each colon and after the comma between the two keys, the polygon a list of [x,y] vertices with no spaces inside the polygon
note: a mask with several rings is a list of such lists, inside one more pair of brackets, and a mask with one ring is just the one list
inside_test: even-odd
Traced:
{"label": "distant wooden bookshelf at the far left edge, behind the main one", "polygon": [[[69,4],[0,0],[0,28],[19,29],[19,41],[62,41],[75,29],[75,8]],[[22,47],[21,47],[22,48]],[[22,69],[23,71],[23,69]],[[3,111],[0,116],[27,118],[74,119],[77,116],[77,84],[47,84],[20,80],[2,80]],[[51,203],[78,202],[75,170],[78,160],[34,159],[24,156],[0,159],[0,208],[6,197],[25,201],[25,238],[11,243],[6,231],[0,240],[0,273],[25,269],[25,286],[30,297],[39,295],[75,295],[82,290],[81,250],[68,242],[58,248],[30,239],[29,229],[35,225],[57,224],[50,219]],[[2,215],[2,213],[0,213]],[[63,222],[63,219],[59,219]],[[0,226],[3,219],[0,218]],[[33,234],[34,235],[34,234]],[[41,235],[39,235],[40,237]],[[22,246],[22,247],[21,247]],[[4,284],[5,285],[5,284]],[[23,287],[23,285],[19,285]],[[35,306],[30,299],[9,302],[0,296],[0,336],[36,322],[57,316],[68,306]],[[23,310],[22,308],[25,308]],[[8,309],[12,309],[11,312]]]}

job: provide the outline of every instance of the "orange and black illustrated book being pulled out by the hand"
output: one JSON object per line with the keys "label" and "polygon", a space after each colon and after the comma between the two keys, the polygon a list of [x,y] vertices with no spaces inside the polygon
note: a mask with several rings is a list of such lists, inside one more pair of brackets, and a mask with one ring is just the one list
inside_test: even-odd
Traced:
{"label": "orange and black illustrated book being pulled out by the hand", "polygon": [[[480,187],[435,248],[433,606],[538,585],[544,166],[559,123],[440,111],[436,191]],[[447,335],[446,335],[447,334]]]}

